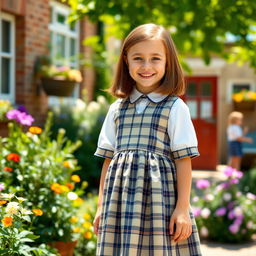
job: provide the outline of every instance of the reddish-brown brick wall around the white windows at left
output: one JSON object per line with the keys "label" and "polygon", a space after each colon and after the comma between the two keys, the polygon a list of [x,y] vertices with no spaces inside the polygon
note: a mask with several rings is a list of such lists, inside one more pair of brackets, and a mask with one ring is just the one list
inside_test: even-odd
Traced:
{"label": "reddish-brown brick wall around the white windows at left", "polygon": [[[15,16],[15,80],[16,80],[16,104],[24,105],[36,121],[35,125],[42,125],[48,110],[48,97],[40,87],[39,81],[33,76],[35,60],[40,55],[48,55],[48,43],[50,40],[50,5],[49,0],[26,0],[25,15]],[[1,8],[1,7],[0,7]],[[2,10],[10,12],[10,10]],[[14,14],[14,13],[13,13]],[[86,19],[80,22],[80,51],[90,57],[91,50],[82,45],[85,37],[96,33],[96,26]],[[82,68],[84,80],[81,90],[86,88],[88,98],[93,97],[93,84],[95,74],[91,68]],[[0,135],[1,133],[0,126]]]}

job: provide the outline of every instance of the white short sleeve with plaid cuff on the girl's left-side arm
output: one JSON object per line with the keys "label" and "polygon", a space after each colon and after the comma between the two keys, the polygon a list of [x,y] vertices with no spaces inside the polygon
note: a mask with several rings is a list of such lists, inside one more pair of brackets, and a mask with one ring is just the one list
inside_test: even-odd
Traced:
{"label": "white short sleeve with plaid cuff on the girl's left-side arm", "polygon": [[103,122],[95,156],[104,158],[113,158],[115,149],[116,138],[116,125],[115,125],[115,109],[116,102],[110,105],[108,113]]}

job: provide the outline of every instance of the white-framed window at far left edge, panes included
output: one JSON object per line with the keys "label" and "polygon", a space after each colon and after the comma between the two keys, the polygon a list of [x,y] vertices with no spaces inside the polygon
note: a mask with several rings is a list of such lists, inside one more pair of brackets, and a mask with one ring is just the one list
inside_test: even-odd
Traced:
{"label": "white-framed window at far left edge, panes included", "polygon": [[0,98],[14,102],[14,18],[0,13]]}

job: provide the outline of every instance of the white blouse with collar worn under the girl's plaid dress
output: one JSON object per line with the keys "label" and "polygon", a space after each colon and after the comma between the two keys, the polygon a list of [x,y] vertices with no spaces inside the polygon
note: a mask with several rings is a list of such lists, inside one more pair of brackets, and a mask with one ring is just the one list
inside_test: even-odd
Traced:
{"label": "white blouse with collar worn under the girl's plaid dress", "polygon": [[[167,95],[151,92],[143,97],[143,94],[134,88],[130,95],[130,102],[135,103],[137,113],[142,113],[150,100],[158,103],[165,99]],[[98,148],[115,151],[116,143],[116,124],[115,110],[119,105],[120,99],[111,104],[104,120],[99,140]],[[184,101],[178,98],[170,111],[168,120],[168,135],[170,137],[171,151],[183,150],[184,148],[197,148],[197,138],[193,123],[191,121],[189,108]]]}

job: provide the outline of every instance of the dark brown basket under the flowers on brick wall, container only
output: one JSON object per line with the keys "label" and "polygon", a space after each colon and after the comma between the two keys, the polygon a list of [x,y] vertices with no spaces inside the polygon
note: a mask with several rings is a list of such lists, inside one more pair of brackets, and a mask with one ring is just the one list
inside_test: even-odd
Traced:
{"label": "dark brown basket under the flowers on brick wall, container only", "polygon": [[53,78],[41,78],[42,87],[47,95],[69,97],[76,86],[75,81],[53,79]]}

